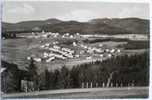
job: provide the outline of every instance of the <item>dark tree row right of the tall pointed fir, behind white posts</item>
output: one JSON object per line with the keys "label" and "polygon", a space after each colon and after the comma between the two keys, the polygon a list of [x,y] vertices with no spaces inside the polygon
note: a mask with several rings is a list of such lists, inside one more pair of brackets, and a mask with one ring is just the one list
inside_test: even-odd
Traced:
{"label": "dark tree row right of the tall pointed fir, behind white posts", "polygon": [[[45,70],[45,79],[40,89],[81,88],[84,83],[96,85],[112,84],[113,86],[134,84],[149,85],[148,53],[140,55],[124,55],[103,62],[96,61],[74,66],[72,69],[63,66],[54,71]],[[42,77],[41,76],[41,77]]]}

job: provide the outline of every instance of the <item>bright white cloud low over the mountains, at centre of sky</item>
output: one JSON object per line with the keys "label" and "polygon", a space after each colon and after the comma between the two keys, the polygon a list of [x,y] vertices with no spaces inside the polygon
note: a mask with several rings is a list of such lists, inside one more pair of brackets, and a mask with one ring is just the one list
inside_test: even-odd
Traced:
{"label": "bright white cloud low over the mountains, at centre of sky", "polygon": [[61,20],[77,20],[80,22],[85,22],[90,19],[98,17],[99,14],[96,12],[93,12],[91,10],[72,10],[65,15],[58,16],[57,18]]}

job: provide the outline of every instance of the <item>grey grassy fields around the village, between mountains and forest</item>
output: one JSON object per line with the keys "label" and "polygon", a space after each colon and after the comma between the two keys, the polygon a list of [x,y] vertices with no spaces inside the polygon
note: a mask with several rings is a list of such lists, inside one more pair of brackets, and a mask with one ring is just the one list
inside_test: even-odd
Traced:
{"label": "grey grassy fields around the village, between mountains and forest", "polygon": [[[30,36],[28,34],[27,36]],[[24,34],[22,34],[24,36]],[[25,69],[28,66],[27,57],[31,55],[41,56],[44,50],[40,49],[40,46],[45,43],[53,43],[55,41],[60,42],[60,46],[70,48],[75,50],[76,52],[80,52],[83,50],[81,47],[74,47],[72,46],[73,41],[84,42],[85,45],[92,46],[92,47],[99,47],[100,44],[105,48],[127,48],[127,51],[122,51],[123,54],[134,54],[141,51],[139,49],[147,49],[149,42],[148,41],[131,41],[126,38],[106,38],[103,39],[101,37],[94,37],[94,38],[77,38],[77,39],[70,39],[70,38],[16,38],[16,39],[6,39],[2,40],[2,59],[11,63],[15,63],[18,65],[20,69]],[[81,40],[82,39],[82,40]],[[84,39],[84,40],[83,40]],[[42,43],[40,41],[43,41]],[[138,50],[136,50],[138,48]],[[136,51],[136,52],[135,52]],[[92,60],[86,60],[86,56],[90,56],[88,54],[80,55],[81,57],[78,59],[67,59],[66,61],[63,60],[54,60],[52,62],[46,63],[41,62],[37,63],[37,66],[40,68],[41,71],[45,68],[49,68],[51,70],[61,68],[63,65],[73,66],[85,62],[91,62]],[[94,58],[93,58],[94,60]]]}

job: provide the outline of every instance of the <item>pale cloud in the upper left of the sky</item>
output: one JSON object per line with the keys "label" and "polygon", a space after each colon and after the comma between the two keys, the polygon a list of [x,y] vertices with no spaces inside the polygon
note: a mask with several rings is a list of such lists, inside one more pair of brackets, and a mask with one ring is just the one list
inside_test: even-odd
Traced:
{"label": "pale cloud in the upper left of the sky", "polygon": [[21,6],[17,6],[17,7],[14,7],[12,9],[10,9],[8,12],[9,13],[13,13],[13,14],[21,14],[21,15],[28,15],[28,14],[31,14],[35,11],[34,7],[32,7],[31,5],[29,4],[23,4]]}

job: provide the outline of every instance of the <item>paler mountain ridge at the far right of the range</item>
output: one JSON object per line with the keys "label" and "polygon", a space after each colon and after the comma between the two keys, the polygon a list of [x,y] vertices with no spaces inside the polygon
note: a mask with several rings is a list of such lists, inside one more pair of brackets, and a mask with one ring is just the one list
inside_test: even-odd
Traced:
{"label": "paler mountain ridge at the far right of the range", "polygon": [[124,29],[131,33],[146,34],[149,33],[149,20],[139,18],[113,18],[113,19],[93,19],[90,21],[93,24],[105,23],[108,26],[114,26]]}

